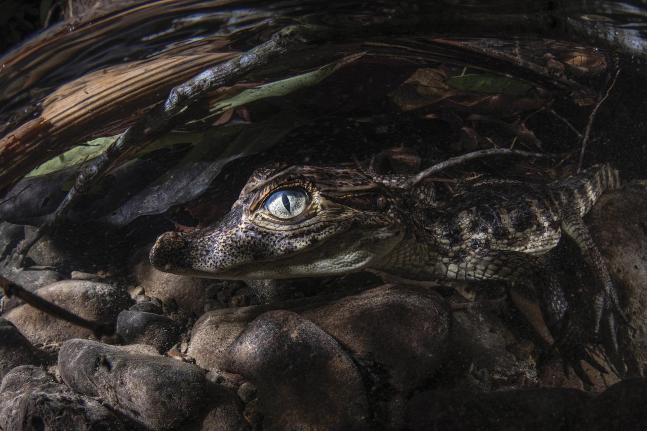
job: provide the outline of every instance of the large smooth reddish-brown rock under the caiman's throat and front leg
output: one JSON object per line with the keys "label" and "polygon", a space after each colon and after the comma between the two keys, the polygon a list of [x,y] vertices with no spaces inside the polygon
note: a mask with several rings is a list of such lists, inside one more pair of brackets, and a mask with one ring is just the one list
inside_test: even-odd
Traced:
{"label": "large smooth reddish-brown rock under the caiman's throat and front leg", "polygon": [[446,357],[450,313],[443,298],[433,291],[383,285],[302,315],[377,370],[382,390],[395,391],[382,407],[382,423],[400,429],[406,397],[431,379]]}

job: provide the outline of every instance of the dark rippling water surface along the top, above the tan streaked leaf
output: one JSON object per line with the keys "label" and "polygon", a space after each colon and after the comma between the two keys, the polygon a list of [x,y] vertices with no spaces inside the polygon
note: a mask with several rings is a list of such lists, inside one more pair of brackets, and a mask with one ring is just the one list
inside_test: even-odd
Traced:
{"label": "dark rippling water surface along the top, above the tan streaked leaf", "polygon": [[[454,16],[452,19],[451,17]],[[445,19],[447,18],[447,19]],[[148,2],[115,12],[91,10],[85,19],[56,23],[3,56],[1,115],[9,118],[23,98],[38,100],[72,78],[111,63],[144,58],[247,50],[276,28],[294,23],[366,27],[391,23],[426,36],[514,34],[575,39],[630,39],[625,49],[644,47],[645,10],[625,3],[583,2]],[[542,20],[554,22],[542,23]],[[443,23],[443,21],[445,21]],[[476,24],[475,24],[476,21]],[[515,22],[516,21],[516,22]],[[498,26],[507,25],[510,28]],[[525,28],[524,28],[525,27]],[[480,34],[479,34],[480,33]],[[552,33],[552,34],[551,34]],[[578,34],[579,33],[579,34]],[[25,96],[29,92],[30,96]]]}

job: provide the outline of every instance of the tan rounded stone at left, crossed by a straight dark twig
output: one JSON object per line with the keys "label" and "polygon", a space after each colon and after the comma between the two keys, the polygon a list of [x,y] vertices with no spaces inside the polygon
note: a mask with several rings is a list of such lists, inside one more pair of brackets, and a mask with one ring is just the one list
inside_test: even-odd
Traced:
{"label": "tan rounded stone at left, crossed by a straight dark twig", "polygon": [[[105,283],[87,280],[63,280],[41,287],[36,294],[88,320],[114,320],[126,308],[130,298],[126,292]],[[61,343],[70,338],[94,337],[85,329],[65,320],[21,305],[3,315],[27,337],[32,344]]]}

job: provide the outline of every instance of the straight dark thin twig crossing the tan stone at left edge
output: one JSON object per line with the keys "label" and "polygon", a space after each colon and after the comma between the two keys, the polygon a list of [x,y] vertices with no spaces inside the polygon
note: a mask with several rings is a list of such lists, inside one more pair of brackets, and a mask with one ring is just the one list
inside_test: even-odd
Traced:
{"label": "straight dark thin twig crossing the tan stone at left edge", "polygon": [[29,304],[40,311],[43,311],[43,313],[66,320],[71,324],[84,327],[85,329],[90,329],[97,338],[101,338],[104,335],[113,335],[115,333],[114,321],[93,322],[92,320],[86,320],[79,315],[75,315],[64,308],[61,308],[56,304],[52,304],[52,302],[31,293],[24,287],[17,285],[4,277],[0,277],[0,287],[5,291],[5,295],[8,298],[16,296],[16,298],[23,300],[26,304]]}

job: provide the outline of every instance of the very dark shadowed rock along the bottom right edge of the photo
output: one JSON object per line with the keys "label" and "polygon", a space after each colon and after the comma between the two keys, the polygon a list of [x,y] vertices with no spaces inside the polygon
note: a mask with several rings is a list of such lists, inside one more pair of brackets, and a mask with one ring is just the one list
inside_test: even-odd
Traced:
{"label": "very dark shadowed rock along the bottom right edge of the photo", "polygon": [[433,390],[408,404],[408,429],[452,431],[642,430],[647,379],[630,379],[602,393],[572,388],[499,392]]}

